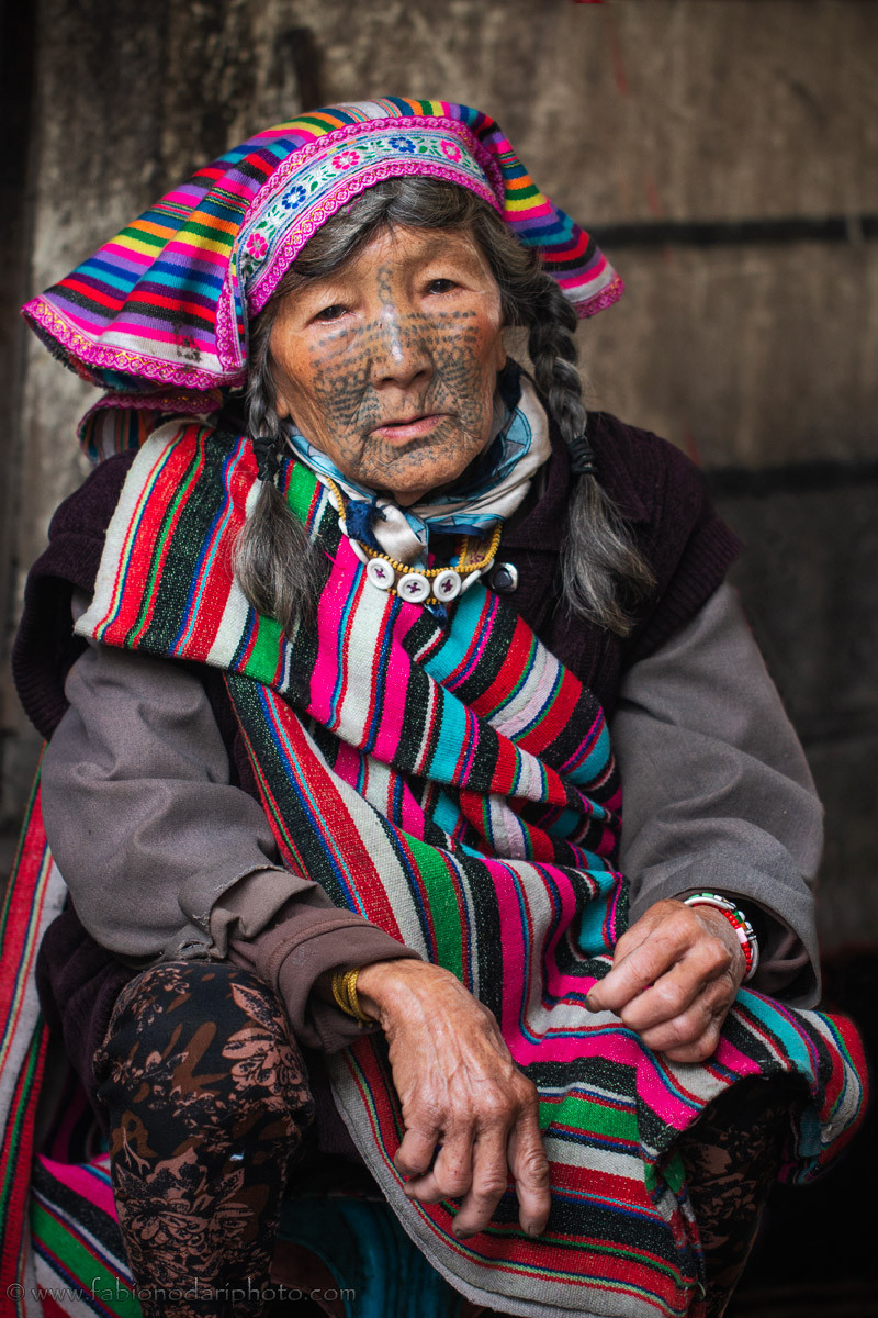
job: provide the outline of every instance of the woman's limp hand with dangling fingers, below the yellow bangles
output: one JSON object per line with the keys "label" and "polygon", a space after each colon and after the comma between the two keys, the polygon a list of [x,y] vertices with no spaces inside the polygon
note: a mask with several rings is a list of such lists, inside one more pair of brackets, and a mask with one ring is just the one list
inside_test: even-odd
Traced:
{"label": "woman's limp hand with dangling fingers, below the yellow bangles", "polygon": [[463,1239],[487,1226],[512,1177],[521,1227],[540,1235],[549,1162],[537,1091],[487,1007],[450,971],[423,961],[365,966],[357,996],[390,1046],[405,1123],[394,1161],[409,1178],[405,1193],[420,1203],[462,1199],[454,1234]]}

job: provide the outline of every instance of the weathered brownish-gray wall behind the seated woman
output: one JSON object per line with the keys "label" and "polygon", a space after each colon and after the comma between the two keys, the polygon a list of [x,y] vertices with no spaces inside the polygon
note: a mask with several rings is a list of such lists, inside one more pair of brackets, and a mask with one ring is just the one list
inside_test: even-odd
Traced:
{"label": "weathered brownish-gray wall behind the seated woman", "polygon": [[[4,236],[7,308],[266,123],[387,92],[499,119],[628,283],[581,331],[591,399],[699,456],[750,543],[741,589],[829,807],[824,936],[878,936],[878,5],[36,0],[30,18],[16,12],[25,30],[0,94],[29,96],[32,113],[21,223]],[[11,324],[8,627],[50,510],[82,476],[72,424],[91,397]],[[9,825],[34,739],[5,679],[0,695]]]}

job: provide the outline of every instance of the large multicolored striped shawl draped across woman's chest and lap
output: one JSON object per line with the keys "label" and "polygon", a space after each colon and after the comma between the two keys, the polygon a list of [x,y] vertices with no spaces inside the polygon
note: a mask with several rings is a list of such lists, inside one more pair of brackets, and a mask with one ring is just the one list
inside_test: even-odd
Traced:
{"label": "large multicolored striped shawl draped across woman's chest and lap", "polygon": [[741,991],[715,1056],[675,1065],[587,1012],[627,903],[613,869],[620,786],[594,696],[480,584],[446,629],[371,588],[323,486],[292,461],[279,482],[320,536],[328,580],[316,625],[284,638],[232,576],[255,478],[246,439],[157,431],[130,469],[80,633],[225,670],[284,862],[453,970],[537,1085],[549,1227],[523,1235],[507,1194],[490,1227],[459,1242],[453,1206],[403,1193],[382,1044],[333,1060],[351,1133],[430,1263],[507,1313],[699,1314],[679,1132],[738,1078],[795,1072],[811,1103],[787,1176],[812,1176],[857,1120],[856,1033]]}

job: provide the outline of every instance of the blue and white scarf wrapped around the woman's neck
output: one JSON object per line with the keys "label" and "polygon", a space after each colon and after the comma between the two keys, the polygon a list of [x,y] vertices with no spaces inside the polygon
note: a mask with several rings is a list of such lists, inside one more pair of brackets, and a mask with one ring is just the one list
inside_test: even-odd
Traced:
{"label": "blue and white scarf wrapped around the woman's neck", "polygon": [[[507,398],[512,397],[507,390],[503,393]],[[430,502],[400,507],[392,500],[376,496],[367,486],[342,476],[332,459],[295,426],[287,428],[287,442],[296,457],[324,484],[329,477],[351,500],[348,505],[350,534],[367,543],[374,536],[373,548],[412,567],[426,565],[430,532],[490,535],[498,522],[515,513],[530,489],[534,473],[552,451],[545,410],[525,374],[520,376],[517,402],[507,402],[498,390],[495,438],[467,468],[466,478],[434,496]],[[361,511],[369,515],[358,517]]]}

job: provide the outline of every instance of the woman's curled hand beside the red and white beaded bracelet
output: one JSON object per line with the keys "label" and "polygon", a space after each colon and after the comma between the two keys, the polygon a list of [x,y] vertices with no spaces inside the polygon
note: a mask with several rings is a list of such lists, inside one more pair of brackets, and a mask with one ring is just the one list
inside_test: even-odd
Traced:
{"label": "woman's curled hand beside the red and white beaded bracelet", "polygon": [[712,907],[657,902],[621,936],[613,967],[588,994],[673,1062],[716,1052],[746,961],[735,929]]}

